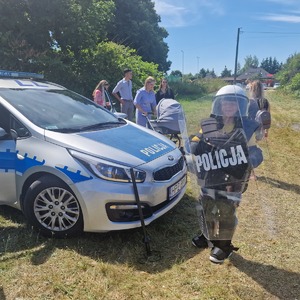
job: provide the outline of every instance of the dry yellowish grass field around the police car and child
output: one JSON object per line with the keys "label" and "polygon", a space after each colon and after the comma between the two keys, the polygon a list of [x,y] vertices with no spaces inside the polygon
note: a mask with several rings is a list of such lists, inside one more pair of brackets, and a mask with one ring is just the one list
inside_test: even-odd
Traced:
{"label": "dry yellowish grass field around the police car and child", "polygon": [[[234,244],[223,265],[195,249],[196,199],[184,199],[147,227],[54,240],[0,207],[0,299],[300,299],[300,100],[269,91],[272,128],[261,142],[265,161],[238,210]],[[211,97],[182,102],[188,132],[210,111]],[[158,254],[157,252],[158,251]],[[157,254],[157,255],[156,255]]]}

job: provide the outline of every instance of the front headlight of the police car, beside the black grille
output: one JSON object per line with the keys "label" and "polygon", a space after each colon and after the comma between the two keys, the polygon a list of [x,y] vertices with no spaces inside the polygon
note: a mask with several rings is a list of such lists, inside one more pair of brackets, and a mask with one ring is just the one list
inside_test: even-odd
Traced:
{"label": "front headlight of the police car, beside the black grille", "polygon": [[[69,153],[86,166],[97,177],[118,182],[131,182],[130,167],[117,163],[108,162],[75,150],[69,150]],[[133,169],[136,182],[144,182],[146,172]]]}

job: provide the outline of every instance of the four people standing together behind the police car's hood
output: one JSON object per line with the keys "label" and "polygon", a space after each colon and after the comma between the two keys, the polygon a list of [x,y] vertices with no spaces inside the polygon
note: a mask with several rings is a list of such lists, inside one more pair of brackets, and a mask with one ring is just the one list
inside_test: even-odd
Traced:
{"label": "four people standing together behind the police car's hood", "polygon": [[[166,78],[160,82],[157,92],[154,91],[155,79],[149,76],[145,84],[140,88],[133,98],[132,95],[132,70],[125,69],[124,77],[116,84],[112,94],[120,102],[121,112],[127,115],[127,119],[133,121],[134,111],[136,123],[147,127],[148,118],[156,114],[156,105],[163,98],[174,99],[174,93],[168,85]],[[109,84],[106,80],[101,80],[93,91],[94,101],[107,109],[110,104],[105,100],[105,93]]]}

